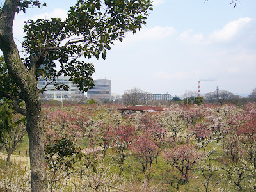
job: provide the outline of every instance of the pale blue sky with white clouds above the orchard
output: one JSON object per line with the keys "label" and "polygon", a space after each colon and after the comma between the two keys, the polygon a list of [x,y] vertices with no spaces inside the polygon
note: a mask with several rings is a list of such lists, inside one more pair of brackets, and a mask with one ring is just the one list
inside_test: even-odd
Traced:
{"label": "pale blue sky with white clouds above the orchard", "polygon": [[[1,1],[2,2],[2,1]],[[0,2],[0,3],[1,3]],[[28,19],[67,17],[76,1],[45,1],[15,17],[14,36],[22,41]],[[115,42],[106,60],[95,65],[93,79],[110,79],[111,92],[140,88],[144,92],[182,96],[227,90],[250,94],[256,87],[256,1],[155,0],[147,24],[135,35]]]}

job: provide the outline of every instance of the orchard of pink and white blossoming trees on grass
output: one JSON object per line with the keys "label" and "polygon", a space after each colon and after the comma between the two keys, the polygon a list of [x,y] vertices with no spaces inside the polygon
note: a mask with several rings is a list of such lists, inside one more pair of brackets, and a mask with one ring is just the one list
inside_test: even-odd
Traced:
{"label": "orchard of pink and white blossoming trees on grass", "polygon": [[51,191],[256,189],[255,103],[127,116],[118,106],[43,106],[42,117]]}

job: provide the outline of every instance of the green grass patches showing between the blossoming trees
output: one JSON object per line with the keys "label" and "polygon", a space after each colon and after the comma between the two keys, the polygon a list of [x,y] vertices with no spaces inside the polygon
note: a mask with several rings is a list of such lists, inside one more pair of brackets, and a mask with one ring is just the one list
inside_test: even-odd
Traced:
{"label": "green grass patches showing between the blossoming trees", "polygon": [[[79,147],[81,148],[86,148],[87,141],[81,140],[79,141],[79,143],[77,143],[77,145],[79,145]],[[214,160],[211,160],[211,163],[219,167],[222,165],[218,160],[218,157],[225,156],[222,145],[223,143],[221,143],[221,141],[219,143],[216,143],[216,141],[213,141],[209,143],[209,145],[207,145],[207,147],[205,148],[205,151],[216,148],[216,152],[211,155],[212,159],[214,159]],[[20,152],[21,156],[26,156],[26,151],[28,151],[28,156],[29,156],[28,136],[25,136],[21,145],[20,144],[17,145],[17,150],[14,152],[14,154],[19,155],[19,152]],[[115,164],[113,163],[113,160],[111,159],[111,155],[113,155],[114,153],[115,151],[112,148],[109,148],[107,151],[107,156],[103,161],[110,165],[112,173],[118,173],[119,168],[118,166],[115,166]],[[162,154],[159,157],[157,157],[157,159],[158,159],[158,164],[156,164],[155,160],[153,161],[153,164],[152,164],[152,173],[154,176],[152,177],[151,184],[155,186],[157,185],[161,186],[161,189],[163,189],[163,191],[176,191],[176,189],[172,188],[170,184],[164,181],[163,175],[164,173],[169,173],[170,175],[172,175],[173,173],[177,173],[179,175],[179,172],[177,172],[177,170],[175,169],[172,170],[170,165],[164,162],[164,152],[162,152]],[[140,166],[141,164],[138,161],[138,159],[136,159],[134,156],[130,156],[125,161],[125,164],[124,164],[125,179],[126,180],[133,179],[133,180],[138,180],[139,182],[142,182],[145,179],[145,176],[138,170],[138,167]],[[225,171],[220,169],[218,171],[218,174],[221,174],[221,173],[224,174]],[[192,191],[192,192],[205,191],[205,188],[202,184],[202,182],[204,181],[204,177],[201,175],[200,171],[192,170],[189,176],[190,176],[189,182],[187,184],[180,185],[179,191]],[[211,184],[212,182],[210,183],[210,187],[211,187]],[[221,188],[227,188],[229,191],[237,191],[236,187],[228,186],[227,182],[221,182],[219,186]]]}

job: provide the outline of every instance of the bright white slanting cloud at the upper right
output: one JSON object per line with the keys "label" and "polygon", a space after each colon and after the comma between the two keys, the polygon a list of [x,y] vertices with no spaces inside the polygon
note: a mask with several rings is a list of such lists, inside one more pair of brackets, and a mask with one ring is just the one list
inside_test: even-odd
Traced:
{"label": "bright white slanting cloud at the upper right", "polygon": [[210,41],[226,42],[232,40],[234,36],[252,19],[249,17],[240,18],[232,22],[228,22],[223,29],[214,31],[209,35]]}

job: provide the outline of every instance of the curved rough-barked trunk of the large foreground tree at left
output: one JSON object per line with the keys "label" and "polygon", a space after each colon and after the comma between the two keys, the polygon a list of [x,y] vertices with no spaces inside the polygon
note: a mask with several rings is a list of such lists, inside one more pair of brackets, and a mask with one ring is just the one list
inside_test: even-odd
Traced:
{"label": "curved rough-barked trunk of the large foreground tree at left", "polygon": [[29,154],[31,164],[32,191],[47,191],[45,171],[43,130],[41,122],[41,101],[37,81],[32,70],[28,70],[19,55],[13,40],[13,19],[19,0],[6,0],[0,11],[0,49],[3,51],[8,72],[19,86],[20,97],[26,103],[26,110],[20,113],[26,116],[26,130],[29,136]]}

